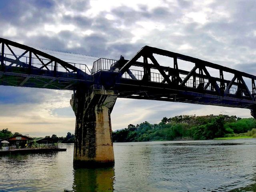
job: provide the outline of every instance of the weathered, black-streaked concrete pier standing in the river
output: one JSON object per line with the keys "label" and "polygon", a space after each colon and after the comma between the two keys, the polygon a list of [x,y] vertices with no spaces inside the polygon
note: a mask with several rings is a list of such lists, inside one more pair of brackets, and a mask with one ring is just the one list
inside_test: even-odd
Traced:
{"label": "weathered, black-streaked concrete pier standing in the river", "polygon": [[114,164],[110,113],[118,94],[95,85],[88,92],[78,89],[70,104],[76,115],[74,166]]}

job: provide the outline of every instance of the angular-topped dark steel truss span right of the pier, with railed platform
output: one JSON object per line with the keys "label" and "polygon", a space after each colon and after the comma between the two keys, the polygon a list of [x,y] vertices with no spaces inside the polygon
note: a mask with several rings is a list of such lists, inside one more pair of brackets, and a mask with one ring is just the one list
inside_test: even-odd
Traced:
{"label": "angular-topped dark steel truss span right of the pier, with railed platform", "polygon": [[[156,60],[156,55],[169,58],[171,66],[161,66]],[[142,61],[138,62],[139,59]],[[178,60],[189,62],[192,69],[179,69]],[[133,67],[137,69],[134,70]],[[113,62],[100,59],[94,62],[93,72],[94,74],[100,72],[101,76],[103,73],[116,73],[115,82],[112,84],[109,84],[107,79],[102,79],[101,82],[102,84],[105,82],[105,86],[118,90],[121,98],[206,104],[251,110],[256,104],[256,76],[149,46],[143,47],[130,60],[121,58]],[[225,78],[225,74],[231,78]],[[250,86],[248,86],[248,81],[251,83]]]}

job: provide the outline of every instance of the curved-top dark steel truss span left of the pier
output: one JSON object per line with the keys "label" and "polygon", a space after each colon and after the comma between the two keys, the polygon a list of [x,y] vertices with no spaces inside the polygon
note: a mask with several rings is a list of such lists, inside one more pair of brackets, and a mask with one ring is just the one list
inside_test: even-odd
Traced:
{"label": "curved-top dark steel truss span left of the pier", "polygon": [[0,84],[74,90],[93,81],[85,64],[68,63],[40,50],[0,38]]}

